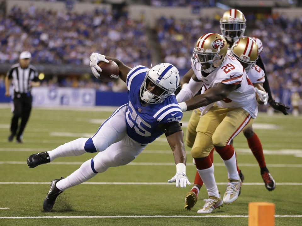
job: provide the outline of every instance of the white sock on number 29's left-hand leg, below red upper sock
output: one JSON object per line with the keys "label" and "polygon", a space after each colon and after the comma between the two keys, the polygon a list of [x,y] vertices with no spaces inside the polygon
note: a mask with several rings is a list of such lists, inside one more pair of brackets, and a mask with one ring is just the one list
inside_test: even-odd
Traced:
{"label": "white sock on number 29's left-hand leg, below red upper sock", "polygon": [[212,166],[207,169],[197,169],[197,171],[208,190],[209,196],[219,197],[219,191],[214,177],[214,165],[212,164]]}

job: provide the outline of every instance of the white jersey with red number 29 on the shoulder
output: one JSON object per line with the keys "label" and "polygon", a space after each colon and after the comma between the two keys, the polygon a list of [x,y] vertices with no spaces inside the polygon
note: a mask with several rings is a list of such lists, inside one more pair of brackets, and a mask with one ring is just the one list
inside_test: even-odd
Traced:
{"label": "white jersey with red number 29 on the shoulder", "polygon": [[[200,70],[201,65],[197,64],[196,67]],[[205,90],[214,87],[216,83],[223,83],[225,85],[240,84],[238,89],[232,91],[223,100],[216,102],[217,106],[227,108],[241,107],[246,110],[252,118],[255,119],[257,117],[258,107],[254,86],[243,70],[243,66],[235,57],[227,54],[221,66],[208,74],[207,77],[203,77],[201,71],[196,70],[194,66],[192,66],[192,69],[196,77],[203,81]]]}

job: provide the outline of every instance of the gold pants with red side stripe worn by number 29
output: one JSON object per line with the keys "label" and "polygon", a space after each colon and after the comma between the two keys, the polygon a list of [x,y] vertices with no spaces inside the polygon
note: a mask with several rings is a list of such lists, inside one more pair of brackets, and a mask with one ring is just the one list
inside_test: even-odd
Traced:
{"label": "gold pants with red side stripe worn by number 29", "polygon": [[224,147],[230,144],[232,139],[244,127],[252,125],[254,120],[243,108],[224,108],[214,105],[199,119],[195,142],[191,150],[192,157],[208,156],[213,145]]}

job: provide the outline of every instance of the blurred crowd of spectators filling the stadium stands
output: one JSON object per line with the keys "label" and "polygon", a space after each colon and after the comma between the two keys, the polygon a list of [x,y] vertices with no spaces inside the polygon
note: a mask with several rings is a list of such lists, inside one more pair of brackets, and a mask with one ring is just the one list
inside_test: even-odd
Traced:
{"label": "blurred crowd of spectators filling the stadium stands", "polygon": [[[156,5],[156,2],[151,1],[150,4]],[[167,6],[174,4],[174,1],[160,2]],[[176,1],[177,5],[173,6],[194,2]],[[201,1],[200,4],[209,2]],[[176,65],[180,74],[185,74],[191,67],[190,58],[196,40],[200,34],[220,33],[220,17],[216,14],[209,19],[158,19],[159,58]],[[258,37],[263,42],[261,58],[275,98],[290,104],[292,93],[302,93],[302,18],[289,20],[275,14],[261,19],[248,14],[246,18],[245,35]],[[250,25],[249,21],[255,22]],[[31,6],[26,12],[15,7],[6,16],[0,14],[0,63],[17,62],[19,53],[26,49],[32,53],[33,64],[88,65],[91,52],[102,52],[116,56],[130,66],[151,65],[148,39],[143,20],[131,20],[126,12],[121,15],[115,10],[109,13],[105,9],[96,9],[92,14],[77,14],[45,11]],[[95,85],[93,80],[86,78],[64,78],[47,83],[58,86],[76,84],[77,87],[98,90],[110,90],[112,87],[112,84]]]}

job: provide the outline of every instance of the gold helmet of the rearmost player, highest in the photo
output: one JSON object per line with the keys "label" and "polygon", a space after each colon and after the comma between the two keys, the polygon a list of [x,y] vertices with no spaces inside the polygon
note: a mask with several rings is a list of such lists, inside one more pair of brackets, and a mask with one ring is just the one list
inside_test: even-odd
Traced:
{"label": "gold helmet of the rearmost player, highest in the photo", "polygon": [[229,42],[234,42],[243,37],[246,28],[246,19],[238,9],[230,9],[224,12],[220,19],[220,30]]}

